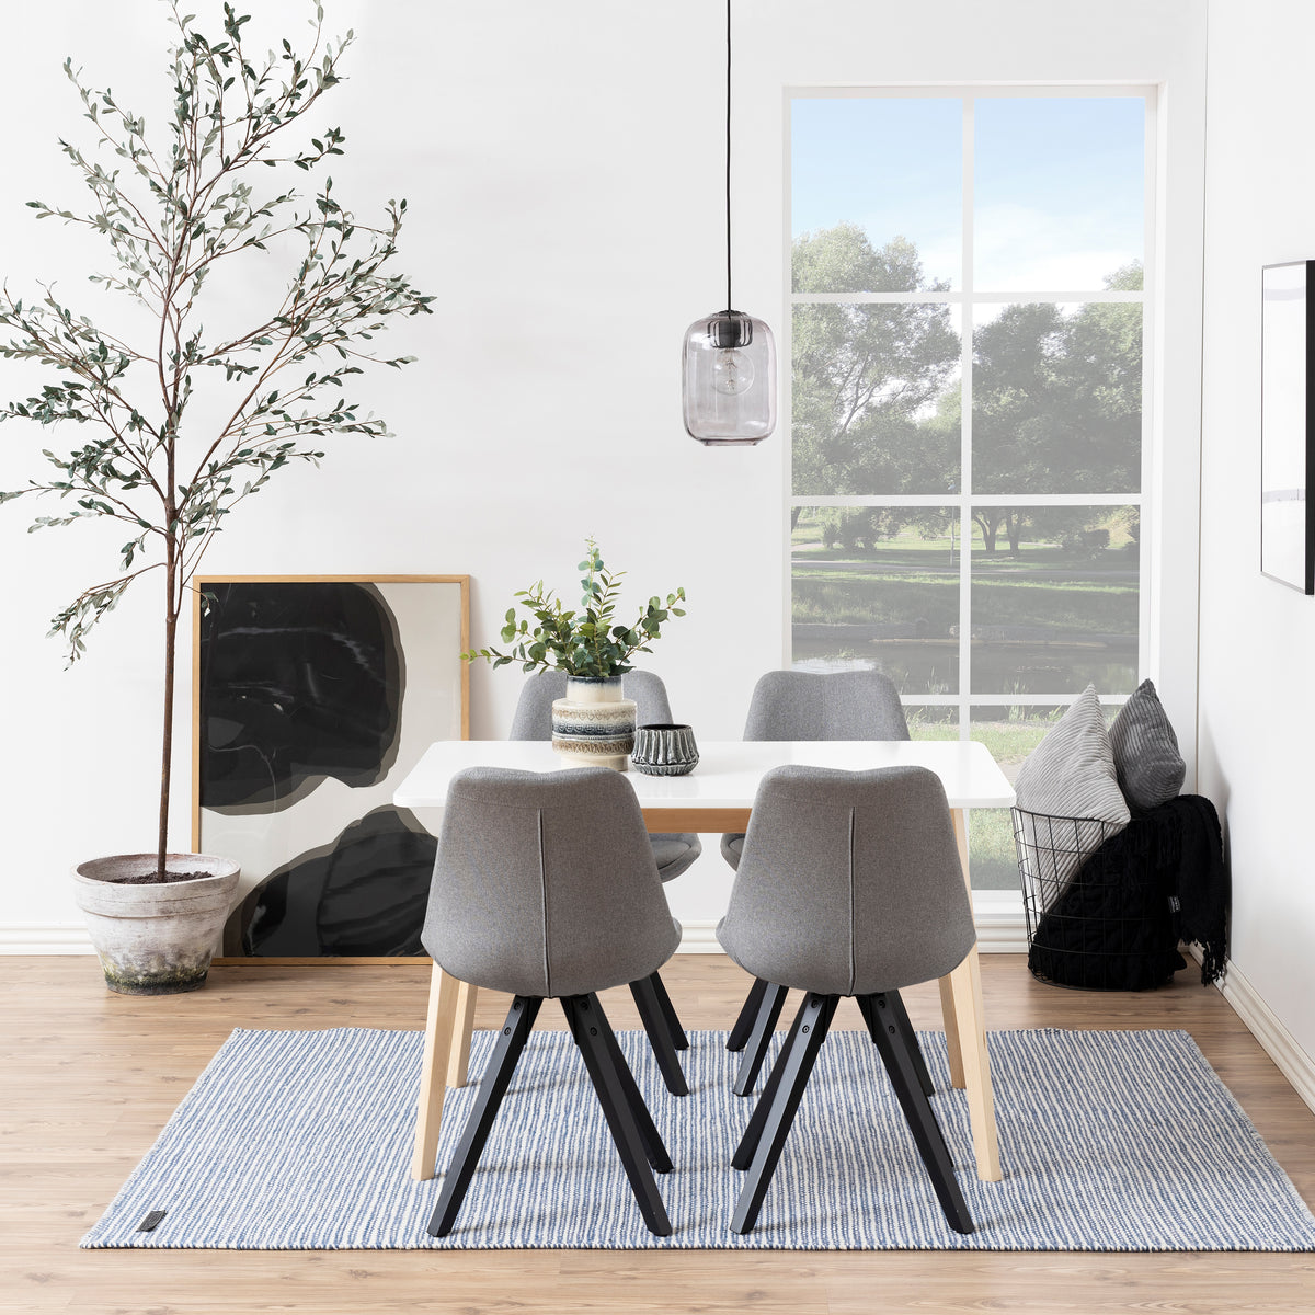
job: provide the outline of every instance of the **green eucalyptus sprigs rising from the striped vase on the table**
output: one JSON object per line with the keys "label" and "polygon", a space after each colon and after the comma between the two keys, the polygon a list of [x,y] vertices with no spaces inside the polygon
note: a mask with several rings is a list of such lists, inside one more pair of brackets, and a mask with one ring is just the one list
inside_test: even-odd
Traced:
{"label": "green eucalyptus sprigs rising from the striped vase on the table", "polygon": [[[502,626],[502,643],[514,644],[510,652],[497,648],[472,648],[462,656],[467,661],[483,658],[494,667],[521,663],[522,671],[564,671],[568,676],[610,677],[623,676],[631,669],[630,658],[648,654],[650,640],[661,635],[663,622],[669,617],[684,617],[677,602],[685,601],[684,588],[667,594],[667,606],[654,594],[633,625],[615,622],[618,594],[625,571],[609,571],[593,539],[585,540],[588,551],[576,569],[580,580],[580,611],[568,611],[562,600],[550,589],[543,592],[539,580],[530,589],[517,589],[521,608],[530,618],[517,618],[515,606],[508,608]],[[530,621],[534,629],[530,629]]]}

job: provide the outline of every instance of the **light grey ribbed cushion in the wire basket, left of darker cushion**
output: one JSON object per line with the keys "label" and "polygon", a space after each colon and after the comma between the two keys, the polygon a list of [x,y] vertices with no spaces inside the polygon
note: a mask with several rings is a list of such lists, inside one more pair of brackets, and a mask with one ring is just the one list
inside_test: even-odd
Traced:
{"label": "light grey ribbed cushion in the wire basket, left of darker cushion", "polygon": [[1103,839],[1122,831],[1131,818],[1114,772],[1114,753],[1095,686],[1088,685],[1068,711],[1027,756],[1014,782],[1018,807],[1043,817],[1089,818],[1066,828],[1072,844],[1055,847],[1049,827],[1023,818],[1023,861],[1030,876],[1057,889]]}

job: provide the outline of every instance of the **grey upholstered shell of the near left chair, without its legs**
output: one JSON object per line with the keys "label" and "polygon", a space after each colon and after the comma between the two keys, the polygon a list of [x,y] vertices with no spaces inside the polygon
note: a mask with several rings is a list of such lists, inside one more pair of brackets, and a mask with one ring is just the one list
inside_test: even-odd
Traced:
{"label": "grey upholstered shell of the near left chair, without its legs", "polygon": [[421,932],[454,977],[581,995],[647,977],[679,942],[623,776],[475,767],[454,777]]}

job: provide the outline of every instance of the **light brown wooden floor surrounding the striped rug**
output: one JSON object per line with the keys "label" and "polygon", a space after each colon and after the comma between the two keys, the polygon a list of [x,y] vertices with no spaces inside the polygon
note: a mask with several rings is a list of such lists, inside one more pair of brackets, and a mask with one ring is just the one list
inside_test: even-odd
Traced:
{"label": "light brown wooden floor surrounding the striped rug", "polygon": [[[1190,970],[1141,995],[1045,988],[1014,955],[984,955],[982,970],[995,1030],[1190,1031],[1315,1203],[1315,1115]],[[663,976],[689,1027],[729,1026],[747,986],[714,955],[679,956]],[[1312,1256],[78,1249],[233,1027],[419,1028],[427,986],[416,967],[226,967],[201,992],[132,999],[105,992],[89,957],[0,959],[0,1311],[1315,1312]],[[915,1026],[940,1026],[934,988],[906,999]],[[638,1026],[627,993],[605,1003]],[[483,999],[476,1026],[504,1011]],[[835,1026],[860,1026],[852,1002]]]}

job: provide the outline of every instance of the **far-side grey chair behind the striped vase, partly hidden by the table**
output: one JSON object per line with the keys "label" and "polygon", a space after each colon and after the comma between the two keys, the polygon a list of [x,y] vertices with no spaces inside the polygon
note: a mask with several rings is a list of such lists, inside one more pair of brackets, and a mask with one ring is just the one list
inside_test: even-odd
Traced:
{"label": "far-side grey chair behind the striped vase, partly hidden by the table", "polygon": [[[651,671],[626,672],[626,697],[635,701],[635,717],[640,726],[661,725],[675,721],[671,715],[671,704],[667,700],[667,686],[660,676]],[[522,686],[521,697],[515,705],[515,714],[512,717],[512,734],[508,739],[518,740],[546,740],[552,739],[552,701],[565,698],[567,676],[563,671],[540,671],[533,675]],[[658,864],[658,876],[663,881],[673,881],[704,852],[702,842],[693,832],[672,832],[650,835],[654,861]],[[671,1036],[672,1045],[677,1051],[689,1048],[689,1039],[681,1027],[676,1007],[667,994],[667,988],[658,973],[644,986],[636,984],[634,988],[635,1005],[639,1007],[639,1016],[644,1030],[654,1041],[654,1053],[661,1066],[667,1086],[676,1095],[685,1095],[684,1074],[680,1066],[673,1066],[673,1056],[660,1044],[656,1028],[665,1026]],[[661,1022],[654,1015],[656,1009],[661,1015]]]}

